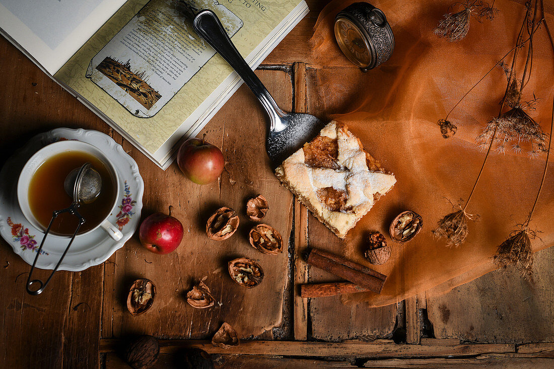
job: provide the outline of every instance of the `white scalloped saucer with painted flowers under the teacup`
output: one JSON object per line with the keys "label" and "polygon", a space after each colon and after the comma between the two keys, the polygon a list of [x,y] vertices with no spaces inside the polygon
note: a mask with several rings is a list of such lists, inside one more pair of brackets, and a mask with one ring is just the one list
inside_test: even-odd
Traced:
{"label": "white scalloped saucer with painted flowers under the teacup", "polygon": [[[102,150],[114,163],[120,178],[121,193],[108,220],[117,225],[123,238],[115,241],[102,229],[86,237],[76,238],[65,255],[59,270],[79,271],[107,260],[123,247],[139,227],[144,182],[136,162],[110,136],[94,130],[57,128],[34,136],[8,159],[0,171],[0,235],[29,265],[42,242],[43,232],[34,228],[23,216],[17,201],[17,181],[25,162],[40,148],[60,140],[88,142]],[[54,269],[69,239],[47,238],[38,258],[37,268]]]}

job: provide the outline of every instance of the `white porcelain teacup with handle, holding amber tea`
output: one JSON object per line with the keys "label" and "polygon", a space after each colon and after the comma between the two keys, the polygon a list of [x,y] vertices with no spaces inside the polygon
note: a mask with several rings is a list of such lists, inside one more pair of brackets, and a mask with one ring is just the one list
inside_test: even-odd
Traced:
{"label": "white porcelain teacup with handle, holding amber tea", "polygon": [[[37,151],[32,157],[30,157],[27,163],[25,163],[25,165],[23,166],[23,170],[19,175],[19,180],[17,182],[17,200],[19,202],[19,207],[21,208],[23,216],[27,219],[27,221],[29,221],[30,224],[33,225],[33,227],[40,229],[43,232],[46,232],[46,228],[44,227],[44,225],[40,224],[40,222],[37,221],[37,218],[34,217],[33,212],[29,207],[29,183],[31,178],[35,174],[35,172],[45,161],[47,161],[49,158],[53,157],[54,155],[58,155],[59,153],[68,152],[68,151],[86,152],[98,158],[98,160],[104,163],[107,170],[110,172],[110,175],[112,176],[112,180],[114,181],[115,194],[118,194],[120,190],[119,177],[117,176],[117,171],[115,170],[113,163],[96,146],[90,145],[90,143],[73,141],[73,140],[58,141],[58,142],[50,143],[50,145],[44,146],[39,151]],[[86,235],[94,232],[99,227],[102,227],[106,231],[106,233],[110,235],[112,239],[119,241],[123,237],[123,234],[114,224],[111,224],[107,220],[107,218],[110,216],[110,214],[114,212],[114,209],[117,206],[117,199],[118,197],[114,196],[114,203],[112,204],[110,211],[106,214],[106,216],[104,217],[104,219],[102,219],[101,222],[99,222],[94,228],[86,232],[77,234],[75,238],[86,237]],[[61,209],[56,209],[56,210],[61,210]],[[54,234],[50,232],[48,234],[48,237],[70,238],[71,235],[59,235],[59,234]]]}

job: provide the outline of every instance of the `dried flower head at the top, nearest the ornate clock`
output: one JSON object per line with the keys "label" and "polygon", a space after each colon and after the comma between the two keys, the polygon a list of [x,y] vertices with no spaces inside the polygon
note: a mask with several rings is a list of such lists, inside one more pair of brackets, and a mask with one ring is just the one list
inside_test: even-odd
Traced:
{"label": "dried flower head at the top, nearest the ornate clock", "polygon": [[461,6],[461,11],[457,13],[444,14],[440,20],[434,33],[438,37],[448,38],[450,42],[455,42],[463,39],[469,30],[469,18],[475,17],[479,22],[483,22],[483,18],[493,20],[498,9],[490,7],[488,3],[466,1],[464,3],[454,3]]}

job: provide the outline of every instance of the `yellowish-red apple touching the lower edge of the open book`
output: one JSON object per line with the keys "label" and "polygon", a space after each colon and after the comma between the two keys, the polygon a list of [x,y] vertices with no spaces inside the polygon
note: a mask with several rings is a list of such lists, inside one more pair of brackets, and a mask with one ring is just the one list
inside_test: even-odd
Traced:
{"label": "yellowish-red apple touching the lower edge of the open book", "polygon": [[201,139],[184,141],[177,152],[177,165],[189,180],[198,184],[211,183],[223,172],[223,153],[217,146]]}

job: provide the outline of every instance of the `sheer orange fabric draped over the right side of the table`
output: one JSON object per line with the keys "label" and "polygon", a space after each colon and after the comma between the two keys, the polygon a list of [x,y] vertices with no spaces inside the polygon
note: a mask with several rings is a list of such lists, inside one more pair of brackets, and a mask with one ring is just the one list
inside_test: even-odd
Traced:
{"label": "sheer orange fabric draped over the right side of the table", "polygon": [[[491,118],[499,113],[506,78],[495,68],[454,110],[449,120],[458,126],[450,139],[443,139],[437,121],[497,61],[514,47],[525,16],[524,4],[497,0],[500,10],[494,20],[470,20],[465,39],[451,43],[438,38],[433,28],[453,0],[406,2],[372,1],[387,16],[396,39],[392,58],[374,70],[362,73],[355,68],[333,71],[348,64],[335,42],[332,27],[338,11],[354,1],[332,1],[321,12],[310,40],[320,69],[316,75],[319,98],[340,100],[341,91],[354,96],[343,110],[327,111],[345,122],[371,155],[397,178],[397,184],[381,198],[343,243],[343,253],[356,262],[363,259],[362,245],[368,230],[388,233],[389,222],[405,209],[423,217],[424,228],[409,243],[393,244],[388,263],[375,266],[388,275],[380,295],[344,295],[350,302],[368,301],[371,306],[394,303],[425,290],[448,291],[457,285],[494,270],[491,260],[496,248],[525,221],[542,177],[545,156],[530,159],[526,151],[491,153],[483,176],[467,211],[480,214],[480,222],[469,221],[469,237],[459,248],[448,248],[433,238],[431,230],[444,215],[452,212],[447,199],[467,199],[485,153],[475,143]],[[546,4],[546,19],[554,28],[552,5]],[[522,49],[520,55],[525,55]],[[507,59],[511,64],[511,58]],[[518,64],[521,73],[523,61]],[[550,131],[554,98],[553,56],[544,29],[534,39],[534,58],[524,100],[535,94],[540,101],[530,115]],[[352,94],[352,91],[356,91]],[[528,150],[527,150],[528,151]],[[554,243],[554,165],[550,165],[540,202],[531,227],[541,230],[542,240],[532,241],[534,250]],[[317,241],[313,242],[317,247]],[[510,272],[512,273],[512,272]],[[542,273],[551,273],[545,270]],[[437,290],[435,289],[435,290]]]}

